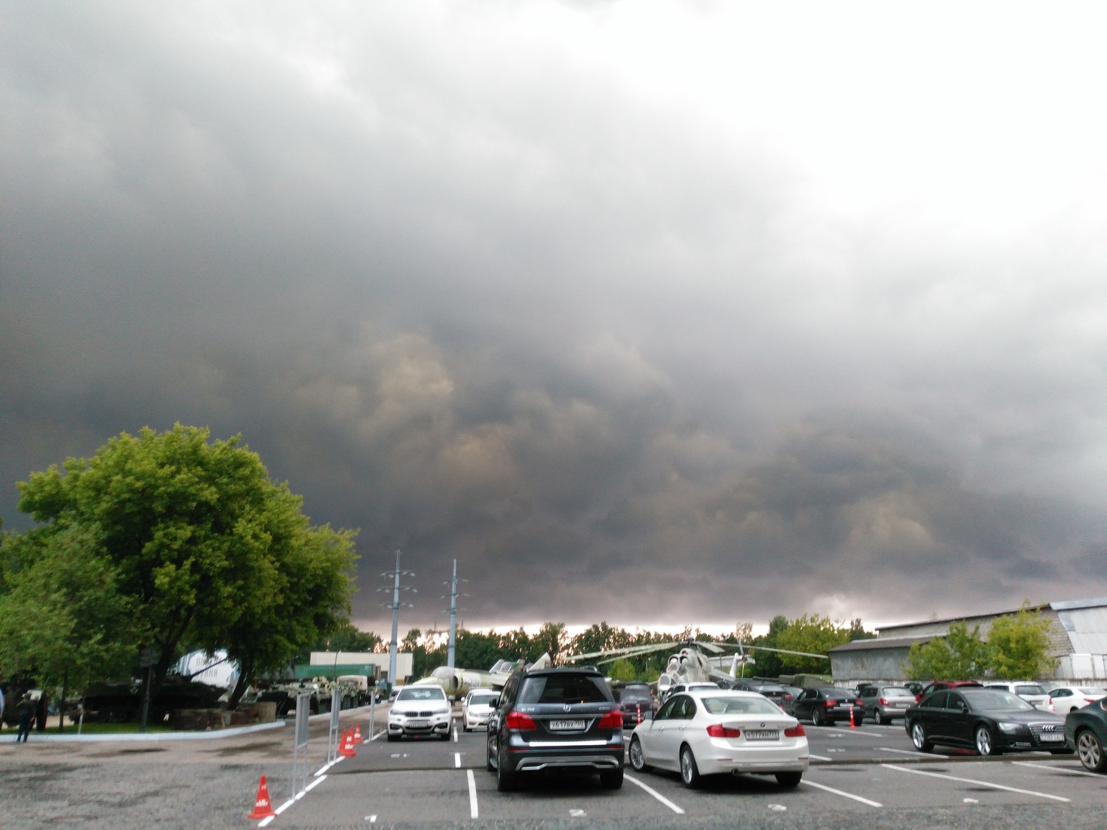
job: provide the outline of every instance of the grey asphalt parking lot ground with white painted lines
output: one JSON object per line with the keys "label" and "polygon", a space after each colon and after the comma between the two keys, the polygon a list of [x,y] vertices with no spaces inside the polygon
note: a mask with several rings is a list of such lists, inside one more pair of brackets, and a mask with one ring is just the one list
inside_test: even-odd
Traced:
{"label": "grey asphalt parking lot ground with white painted lines", "polygon": [[[377,710],[376,726],[383,724]],[[368,713],[343,716],[370,738]],[[267,822],[282,828],[996,828],[1107,826],[1107,777],[1068,757],[968,753],[920,756],[902,725],[807,727],[813,766],[798,788],[758,776],[708,780],[685,789],[663,771],[628,770],[620,790],[594,776],[535,778],[496,790],[485,770],[485,734],[457,730],[448,741],[390,743],[318,771],[324,730],[309,745],[312,789]],[[278,730],[283,733],[284,730]],[[288,801],[291,730],[278,740],[227,739],[128,754],[128,747],[0,746],[0,826],[252,828],[246,813],[257,777],[269,776],[273,806]],[[275,746],[276,744],[276,746]],[[892,751],[894,750],[894,751]],[[137,750],[135,750],[137,751]],[[829,759],[829,760],[823,760]]]}

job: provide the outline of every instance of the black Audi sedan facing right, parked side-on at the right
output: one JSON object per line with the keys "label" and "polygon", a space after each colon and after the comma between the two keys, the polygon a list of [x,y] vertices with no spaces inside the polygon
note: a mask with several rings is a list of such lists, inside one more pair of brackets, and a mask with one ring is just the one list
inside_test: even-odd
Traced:
{"label": "black Audi sedan facing right, parked side-on at the right", "polygon": [[994,688],[934,692],[907,710],[904,725],[921,753],[932,751],[935,744],[969,747],[981,755],[1072,751],[1064,718]]}

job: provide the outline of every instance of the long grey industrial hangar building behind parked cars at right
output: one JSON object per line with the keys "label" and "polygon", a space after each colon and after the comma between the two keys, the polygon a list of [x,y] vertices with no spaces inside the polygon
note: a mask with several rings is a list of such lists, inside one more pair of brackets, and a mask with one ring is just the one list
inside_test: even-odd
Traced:
{"label": "long grey industrial hangar building behind parked cars at right", "polygon": [[[1031,608],[1041,611],[1049,622],[1049,656],[1057,658],[1053,677],[1079,683],[1107,681],[1107,599],[1047,602]],[[992,623],[1001,616],[1016,614],[1018,609],[992,614],[952,616],[906,625],[877,629],[876,640],[856,640],[831,649],[830,673],[835,683],[851,686],[860,681],[900,682],[907,679],[904,665],[908,652],[915,643],[925,643],[950,633],[950,624],[964,621],[969,630],[980,625],[980,636],[987,640]]]}

